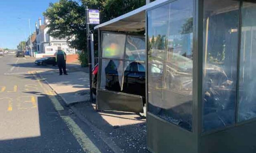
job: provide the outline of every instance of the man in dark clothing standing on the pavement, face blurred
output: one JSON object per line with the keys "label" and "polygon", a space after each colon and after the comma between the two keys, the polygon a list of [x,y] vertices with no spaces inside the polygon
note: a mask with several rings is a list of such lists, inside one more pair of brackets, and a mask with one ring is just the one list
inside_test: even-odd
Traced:
{"label": "man in dark clothing standing on the pavement, face blurred", "polygon": [[66,53],[58,47],[58,51],[56,53],[56,62],[59,67],[59,75],[62,75],[62,70],[65,75],[66,73]]}

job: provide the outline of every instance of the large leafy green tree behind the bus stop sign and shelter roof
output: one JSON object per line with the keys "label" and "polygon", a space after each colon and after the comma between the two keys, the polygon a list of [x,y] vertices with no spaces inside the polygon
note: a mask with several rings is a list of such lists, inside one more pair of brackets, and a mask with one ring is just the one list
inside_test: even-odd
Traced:
{"label": "large leafy green tree behind the bus stop sign and shelter roof", "polygon": [[[76,0],[59,0],[59,2],[50,3],[43,15],[47,16],[50,21],[50,24],[47,25],[49,35],[67,38],[70,47],[82,51],[79,60],[82,65],[86,65],[84,63],[88,60],[85,6],[90,9],[99,9],[100,22],[103,23],[137,9],[145,3],[145,0],[81,0],[80,5]],[[90,26],[91,32],[93,32],[94,26]],[[95,31],[94,33],[97,34]],[[95,36],[95,42],[97,42],[97,35]],[[95,43],[95,51],[98,50],[97,47],[97,43]]]}

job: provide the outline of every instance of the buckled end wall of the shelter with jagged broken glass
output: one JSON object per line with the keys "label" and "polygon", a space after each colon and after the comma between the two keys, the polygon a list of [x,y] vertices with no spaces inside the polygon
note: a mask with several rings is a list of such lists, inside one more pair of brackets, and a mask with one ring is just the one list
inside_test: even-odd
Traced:
{"label": "buckled end wall of the shelter with jagged broken glass", "polygon": [[[139,102],[141,105],[139,104],[139,106],[143,112],[143,104],[145,104],[145,36],[103,31],[101,37],[102,57],[99,90],[112,91],[116,94],[126,93],[130,96],[139,95],[141,96]],[[128,95],[121,94],[122,96]],[[101,101],[103,104],[108,103],[109,100]],[[117,106],[118,104],[111,108],[119,110]],[[122,105],[122,107],[125,106]],[[110,107],[99,108],[111,109]],[[131,109],[130,111],[135,110]]]}

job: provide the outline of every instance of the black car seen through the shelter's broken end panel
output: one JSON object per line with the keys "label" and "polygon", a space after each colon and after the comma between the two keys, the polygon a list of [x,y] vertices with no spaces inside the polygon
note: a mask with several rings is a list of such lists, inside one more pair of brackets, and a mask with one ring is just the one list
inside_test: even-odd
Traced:
{"label": "black car seen through the shelter's broken end panel", "polygon": [[[98,64],[92,69],[92,92],[96,95]],[[119,83],[117,67],[110,60],[105,67],[106,85],[105,89],[142,96],[145,104],[145,64],[132,62],[127,65],[124,72],[122,89]]]}

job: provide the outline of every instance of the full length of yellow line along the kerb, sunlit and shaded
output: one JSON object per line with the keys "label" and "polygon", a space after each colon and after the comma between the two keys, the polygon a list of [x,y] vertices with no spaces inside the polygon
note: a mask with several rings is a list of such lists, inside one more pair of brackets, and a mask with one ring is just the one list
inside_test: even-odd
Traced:
{"label": "full length of yellow line along the kerb, sunlit and shaded", "polygon": [[[35,72],[31,72],[30,74],[35,74]],[[59,100],[55,97],[55,93],[53,91],[47,90],[43,84],[41,83],[40,79],[36,75],[34,77],[37,79],[39,85],[44,90],[45,94],[50,98],[52,101],[52,104],[54,105],[55,109],[58,111],[64,110],[62,105],[60,104]],[[63,121],[66,123],[67,127],[73,134],[73,136],[76,138],[80,146],[83,148],[83,150],[87,153],[101,153],[100,150],[95,146],[90,138],[81,130],[81,128],[76,124],[75,121],[70,116],[62,116],[59,113],[59,116],[63,119]]]}

